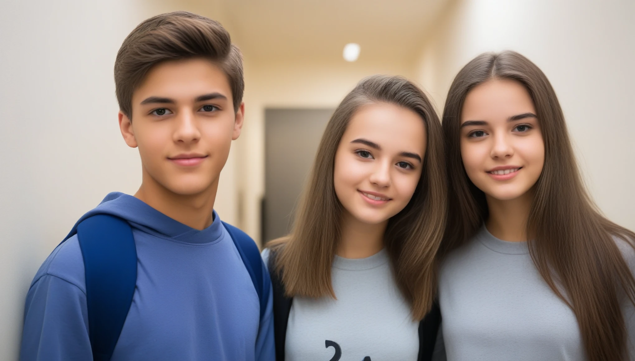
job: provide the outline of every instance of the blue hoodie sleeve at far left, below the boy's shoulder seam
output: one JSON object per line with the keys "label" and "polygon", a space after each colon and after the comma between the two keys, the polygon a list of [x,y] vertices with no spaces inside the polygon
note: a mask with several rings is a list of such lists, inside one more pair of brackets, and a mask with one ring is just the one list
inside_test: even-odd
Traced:
{"label": "blue hoodie sleeve at far left, below the boy's shoulder seam", "polygon": [[93,360],[86,294],[53,275],[43,275],[27,293],[20,361]]}

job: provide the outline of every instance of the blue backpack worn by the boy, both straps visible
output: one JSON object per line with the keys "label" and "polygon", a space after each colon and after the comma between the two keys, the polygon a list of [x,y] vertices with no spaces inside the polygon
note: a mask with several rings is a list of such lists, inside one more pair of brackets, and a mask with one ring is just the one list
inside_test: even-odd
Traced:
{"label": "blue backpack worn by the boy, both straps visible", "polygon": [[[255,242],[238,228],[223,222],[260,299],[264,315],[271,281]],[[137,286],[137,247],[128,222],[110,214],[96,214],[79,223],[76,232],[84,258],[88,335],[93,360],[109,361],[128,316]],[[62,241],[64,242],[64,241]]]}

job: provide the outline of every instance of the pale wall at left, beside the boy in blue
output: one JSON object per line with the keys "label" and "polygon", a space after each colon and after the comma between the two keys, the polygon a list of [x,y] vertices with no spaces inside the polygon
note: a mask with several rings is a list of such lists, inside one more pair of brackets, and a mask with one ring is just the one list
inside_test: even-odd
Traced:
{"label": "pale wall at left, beside the boy in blue", "polygon": [[12,1],[0,11],[0,360],[17,360],[23,304],[44,258],[110,190],[134,192],[112,64],[143,13],[132,1]]}

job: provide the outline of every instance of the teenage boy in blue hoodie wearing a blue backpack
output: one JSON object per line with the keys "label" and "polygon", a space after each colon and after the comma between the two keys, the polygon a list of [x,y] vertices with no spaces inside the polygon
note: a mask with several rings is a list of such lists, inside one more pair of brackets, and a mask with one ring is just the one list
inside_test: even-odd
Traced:
{"label": "teenage boy in blue hoodie wearing a blue backpack", "polygon": [[[250,266],[237,228],[213,211],[243,126],[239,49],[220,23],[179,11],[138,25],[114,69],[119,126],[139,148],[142,184],[134,196],[107,195],[44,261],[27,295],[20,359],[274,360],[271,294],[258,290],[270,287],[262,259]],[[119,225],[105,225],[104,215]],[[126,227],[133,247],[112,253]],[[98,265],[109,251],[114,261]],[[128,287],[112,280],[130,254],[131,301],[114,349],[104,351],[116,329],[111,308]]]}

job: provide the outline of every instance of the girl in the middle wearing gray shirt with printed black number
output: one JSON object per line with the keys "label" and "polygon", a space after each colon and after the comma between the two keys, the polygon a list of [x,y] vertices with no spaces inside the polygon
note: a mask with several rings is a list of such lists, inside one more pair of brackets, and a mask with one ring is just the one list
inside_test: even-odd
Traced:
{"label": "girl in the middle wearing gray shirt with printed black number", "polygon": [[363,79],[326,126],[291,233],[263,253],[277,360],[429,360],[446,202],[427,97],[402,77]]}

